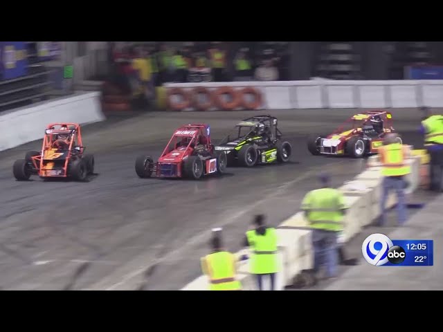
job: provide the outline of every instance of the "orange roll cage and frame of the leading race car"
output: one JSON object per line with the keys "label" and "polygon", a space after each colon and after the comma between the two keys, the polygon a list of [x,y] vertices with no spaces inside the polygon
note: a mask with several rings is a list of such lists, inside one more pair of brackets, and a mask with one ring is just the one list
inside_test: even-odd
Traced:
{"label": "orange roll cage and frame of the leading race car", "polygon": [[[55,129],[55,127],[66,127],[68,130],[60,130]],[[71,127],[71,129],[69,129]],[[71,122],[55,122],[48,124],[45,129],[44,137],[43,137],[43,145],[42,145],[42,153],[39,154],[39,156],[33,156],[31,157],[31,161],[33,162],[33,166],[35,169],[38,169],[40,171],[44,171],[44,151],[48,151],[53,149],[53,141],[51,140],[51,137],[53,135],[60,135],[60,134],[69,134],[71,135],[71,140],[69,140],[69,147],[68,149],[60,149],[60,151],[72,151],[73,150],[73,143],[75,141],[75,138],[77,139],[77,145],[75,146],[75,151],[78,151],[80,154],[83,154],[84,149],[86,147],[83,146],[82,143],[82,133],[80,129],[80,124],[78,123],[71,123]],[[77,137],[75,137],[77,136]],[[78,148],[78,149],[77,149]],[[64,163],[64,169],[66,169],[67,164],[69,162],[69,158],[66,158]]]}

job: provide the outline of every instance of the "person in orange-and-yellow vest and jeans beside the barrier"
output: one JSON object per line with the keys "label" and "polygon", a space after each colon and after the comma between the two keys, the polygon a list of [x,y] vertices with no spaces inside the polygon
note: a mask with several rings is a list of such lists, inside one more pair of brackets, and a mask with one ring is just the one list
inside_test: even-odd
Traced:
{"label": "person in orange-and-yellow vest and jeans beside the barrier", "polygon": [[399,143],[397,133],[388,133],[383,140],[383,146],[378,150],[383,175],[383,190],[381,192],[381,215],[379,225],[385,223],[386,201],[390,190],[397,192],[397,218],[399,224],[406,222],[406,188],[405,176],[410,173],[410,166],[406,163],[408,149]]}

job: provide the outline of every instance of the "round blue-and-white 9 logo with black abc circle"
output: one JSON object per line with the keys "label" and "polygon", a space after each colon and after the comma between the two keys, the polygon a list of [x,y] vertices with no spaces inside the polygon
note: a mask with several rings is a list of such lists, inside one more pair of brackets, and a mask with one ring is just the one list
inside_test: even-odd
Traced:
{"label": "round blue-and-white 9 logo with black abc circle", "polygon": [[406,259],[406,251],[401,246],[394,246],[392,240],[385,234],[370,234],[363,241],[361,252],[365,260],[374,266],[401,264]]}

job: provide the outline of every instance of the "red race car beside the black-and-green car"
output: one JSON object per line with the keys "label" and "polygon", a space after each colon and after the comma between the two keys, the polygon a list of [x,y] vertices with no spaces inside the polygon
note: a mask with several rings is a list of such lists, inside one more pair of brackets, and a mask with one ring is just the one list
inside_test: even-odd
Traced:
{"label": "red race car beside the black-and-green car", "polygon": [[168,142],[159,160],[154,163],[151,156],[136,159],[136,174],[150,178],[201,178],[208,174],[221,174],[226,170],[227,158],[224,151],[215,151],[210,141],[207,124],[188,124],[180,127]]}

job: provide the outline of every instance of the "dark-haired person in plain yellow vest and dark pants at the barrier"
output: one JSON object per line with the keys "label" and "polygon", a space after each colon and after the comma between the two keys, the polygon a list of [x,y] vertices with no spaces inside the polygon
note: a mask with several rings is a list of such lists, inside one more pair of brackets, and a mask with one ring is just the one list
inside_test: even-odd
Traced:
{"label": "dark-haired person in plain yellow vest and dark pants at the barrier", "polygon": [[257,286],[263,291],[264,276],[269,275],[271,291],[275,291],[276,274],[278,266],[278,239],[275,228],[264,225],[264,215],[254,217],[251,229],[246,232],[244,245],[251,248],[250,271],[257,278]]}

